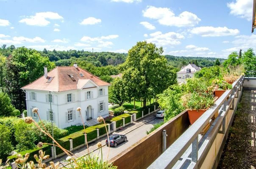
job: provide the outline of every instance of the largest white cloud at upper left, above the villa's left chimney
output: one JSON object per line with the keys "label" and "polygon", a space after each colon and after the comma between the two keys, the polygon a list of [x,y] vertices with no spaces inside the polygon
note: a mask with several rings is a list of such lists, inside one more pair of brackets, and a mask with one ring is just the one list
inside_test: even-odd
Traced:
{"label": "largest white cloud at upper left, above the villa's left chimney", "polygon": [[28,16],[25,19],[21,19],[19,22],[33,26],[46,26],[50,24],[50,21],[46,19],[63,19],[63,17],[54,12],[39,12],[34,16]]}

